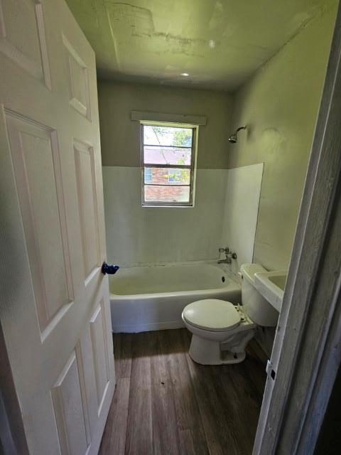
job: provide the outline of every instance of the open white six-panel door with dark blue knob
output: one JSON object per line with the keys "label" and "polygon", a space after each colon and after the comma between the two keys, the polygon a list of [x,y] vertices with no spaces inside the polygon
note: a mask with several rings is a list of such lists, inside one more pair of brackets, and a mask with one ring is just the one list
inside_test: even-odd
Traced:
{"label": "open white six-panel door with dark blue knob", "polygon": [[97,82],[63,0],[0,0],[1,306],[32,455],[97,454],[114,392]]}

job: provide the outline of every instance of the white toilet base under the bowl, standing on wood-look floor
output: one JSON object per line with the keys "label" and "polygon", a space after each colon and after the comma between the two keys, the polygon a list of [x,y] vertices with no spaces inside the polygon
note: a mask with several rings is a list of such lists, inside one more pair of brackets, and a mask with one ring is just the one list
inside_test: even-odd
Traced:
{"label": "white toilet base under the bowl, standing on wood-look floor", "polygon": [[221,350],[219,341],[210,341],[205,338],[192,335],[190,342],[190,358],[200,365],[227,365],[240,363],[246,357],[244,350],[232,353],[229,350]]}

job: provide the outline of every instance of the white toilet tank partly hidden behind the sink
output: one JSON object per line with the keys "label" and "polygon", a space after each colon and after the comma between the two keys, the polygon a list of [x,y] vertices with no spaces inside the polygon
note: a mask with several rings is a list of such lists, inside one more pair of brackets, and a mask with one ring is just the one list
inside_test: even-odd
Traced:
{"label": "white toilet tank partly hidden behind the sink", "polygon": [[258,326],[274,327],[277,325],[279,313],[254,287],[254,274],[266,272],[260,264],[243,264],[242,274],[242,305],[247,315]]}

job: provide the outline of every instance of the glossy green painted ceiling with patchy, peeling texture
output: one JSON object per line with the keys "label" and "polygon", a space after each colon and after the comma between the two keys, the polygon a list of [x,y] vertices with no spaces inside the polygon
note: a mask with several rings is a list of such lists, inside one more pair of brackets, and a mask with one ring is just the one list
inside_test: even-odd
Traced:
{"label": "glossy green painted ceiling with patchy, peeling texture", "polygon": [[231,92],[327,3],[67,0],[99,77]]}

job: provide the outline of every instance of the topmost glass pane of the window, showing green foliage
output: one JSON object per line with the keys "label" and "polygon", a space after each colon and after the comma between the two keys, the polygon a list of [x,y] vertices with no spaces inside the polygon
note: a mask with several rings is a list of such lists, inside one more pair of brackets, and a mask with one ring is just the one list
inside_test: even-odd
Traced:
{"label": "topmost glass pane of the window, showing green foliage", "polygon": [[191,147],[192,133],[191,128],[144,125],[144,144]]}

